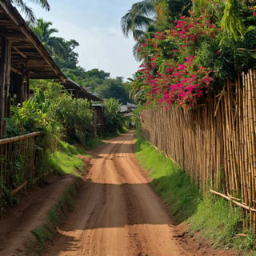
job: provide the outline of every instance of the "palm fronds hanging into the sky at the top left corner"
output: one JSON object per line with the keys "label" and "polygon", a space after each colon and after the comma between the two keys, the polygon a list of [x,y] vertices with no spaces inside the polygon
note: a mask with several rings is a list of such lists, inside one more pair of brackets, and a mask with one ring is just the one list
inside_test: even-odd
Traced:
{"label": "palm fronds hanging into the sky at the top left corner", "polygon": [[[36,18],[34,17],[33,10],[26,5],[26,2],[23,0],[2,0],[7,3],[7,5],[17,6],[23,13],[26,14],[30,22],[35,22]],[[47,0],[30,0],[30,2],[38,3],[43,9],[50,10],[50,5]]]}

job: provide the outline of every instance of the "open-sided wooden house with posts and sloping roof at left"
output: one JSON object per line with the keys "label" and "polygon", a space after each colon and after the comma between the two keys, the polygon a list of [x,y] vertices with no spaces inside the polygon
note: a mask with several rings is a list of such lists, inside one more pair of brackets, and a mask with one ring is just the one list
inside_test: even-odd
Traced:
{"label": "open-sided wooden house with posts and sloping roof at left", "polygon": [[6,137],[11,99],[30,97],[30,78],[54,79],[77,97],[100,100],[66,78],[18,10],[0,1],[0,139]]}

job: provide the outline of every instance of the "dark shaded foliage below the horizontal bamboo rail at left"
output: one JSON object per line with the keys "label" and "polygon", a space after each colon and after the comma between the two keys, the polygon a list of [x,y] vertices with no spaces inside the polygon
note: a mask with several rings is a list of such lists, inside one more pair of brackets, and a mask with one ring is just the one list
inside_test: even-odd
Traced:
{"label": "dark shaded foliage below the horizontal bamboo rail at left", "polygon": [[11,154],[0,156],[1,207],[14,206],[18,203],[18,197],[12,194],[18,186],[24,182],[34,183],[44,174],[50,173],[49,155],[53,144],[50,138],[49,134],[40,134],[37,138],[27,138],[5,146],[6,152]]}

